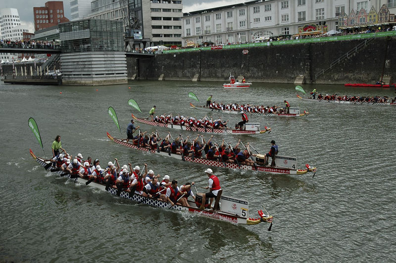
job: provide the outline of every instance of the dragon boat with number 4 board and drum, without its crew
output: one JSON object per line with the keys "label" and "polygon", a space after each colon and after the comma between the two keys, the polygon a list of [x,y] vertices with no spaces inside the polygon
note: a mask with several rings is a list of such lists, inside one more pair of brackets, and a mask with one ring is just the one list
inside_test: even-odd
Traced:
{"label": "dragon boat with number 4 board and drum, without its crew", "polygon": [[156,150],[139,147],[132,143],[125,142],[121,139],[115,138],[115,137],[111,136],[108,132],[107,132],[107,137],[117,144],[121,144],[123,146],[129,147],[132,149],[145,151],[145,152],[156,154],[156,155],[169,156],[171,158],[181,160],[184,162],[188,162],[188,163],[203,164],[203,165],[208,165],[208,166],[223,167],[223,168],[235,169],[235,170],[247,170],[247,171],[250,170],[250,171],[264,172],[264,173],[275,174],[275,175],[304,175],[309,172],[313,172],[315,175],[315,173],[316,173],[316,167],[311,167],[308,164],[305,165],[305,167],[306,167],[305,169],[297,169],[297,158],[296,157],[276,155],[275,166],[269,167],[269,166],[264,165],[264,162],[263,162],[264,156],[257,155],[256,163],[254,165],[242,165],[242,164],[239,165],[238,163],[228,163],[228,162],[222,162],[222,161],[218,161],[218,160],[208,160],[205,158],[194,158],[192,156],[187,156],[187,155],[185,156],[185,155],[173,154],[170,152],[163,152],[163,151],[159,150],[159,147],[157,147]]}

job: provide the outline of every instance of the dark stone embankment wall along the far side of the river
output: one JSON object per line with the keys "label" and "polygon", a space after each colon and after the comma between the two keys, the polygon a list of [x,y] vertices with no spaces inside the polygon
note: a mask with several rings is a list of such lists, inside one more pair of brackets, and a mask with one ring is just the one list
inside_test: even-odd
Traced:
{"label": "dark stone embankment wall along the far side of the river", "polygon": [[396,82],[396,39],[373,39],[330,67],[364,40],[312,44],[192,51],[159,54],[152,58],[128,58],[128,78],[227,81],[229,74],[246,76],[251,82],[375,83],[383,75]]}

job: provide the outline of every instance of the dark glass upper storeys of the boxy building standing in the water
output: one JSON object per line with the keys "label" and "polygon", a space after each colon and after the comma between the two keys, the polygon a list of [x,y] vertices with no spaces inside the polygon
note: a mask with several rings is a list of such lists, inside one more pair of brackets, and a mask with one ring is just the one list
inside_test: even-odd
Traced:
{"label": "dark glass upper storeys of the boxy building standing in the water", "polygon": [[84,19],[59,25],[62,52],[124,51],[121,21]]}

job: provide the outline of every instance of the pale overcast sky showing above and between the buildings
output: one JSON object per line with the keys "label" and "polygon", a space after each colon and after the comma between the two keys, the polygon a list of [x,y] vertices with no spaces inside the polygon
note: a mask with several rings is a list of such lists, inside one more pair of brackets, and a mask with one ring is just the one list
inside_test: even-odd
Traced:
{"label": "pale overcast sky showing above and between the buildings", "polygon": [[[147,0],[146,0],[147,1]],[[33,30],[33,6],[44,6],[47,0],[0,0],[0,8],[16,8],[22,24],[27,24]],[[190,12],[206,8],[212,8],[233,3],[245,2],[245,0],[182,0],[183,12]],[[63,1],[65,17],[70,19],[70,0]]]}

